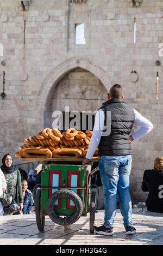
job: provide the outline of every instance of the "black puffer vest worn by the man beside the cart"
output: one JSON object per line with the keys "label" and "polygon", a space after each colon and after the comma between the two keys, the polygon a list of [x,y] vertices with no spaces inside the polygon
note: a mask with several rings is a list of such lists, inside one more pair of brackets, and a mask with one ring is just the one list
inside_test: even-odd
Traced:
{"label": "black puffer vest worn by the man beside the cart", "polygon": [[122,99],[110,99],[103,103],[101,109],[111,111],[111,132],[101,136],[98,150],[99,156],[123,156],[131,154],[129,134],[134,124],[134,110]]}

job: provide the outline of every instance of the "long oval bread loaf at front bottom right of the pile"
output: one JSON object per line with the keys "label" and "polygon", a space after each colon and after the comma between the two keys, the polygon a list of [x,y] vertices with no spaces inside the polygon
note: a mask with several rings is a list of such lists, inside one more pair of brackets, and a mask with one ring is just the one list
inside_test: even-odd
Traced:
{"label": "long oval bread loaf at front bottom right of the pile", "polygon": [[80,158],[82,151],[75,148],[60,148],[52,152],[54,158]]}

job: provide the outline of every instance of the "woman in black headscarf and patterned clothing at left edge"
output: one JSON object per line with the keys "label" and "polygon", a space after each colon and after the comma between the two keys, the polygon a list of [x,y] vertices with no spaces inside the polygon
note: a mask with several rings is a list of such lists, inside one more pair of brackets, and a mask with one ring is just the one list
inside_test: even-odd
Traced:
{"label": "woman in black headscarf and patterned clothing at left edge", "polygon": [[3,171],[7,183],[7,193],[12,195],[12,198],[20,206],[20,210],[22,210],[23,194],[21,174],[20,171],[12,165],[12,156],[10,154],[5,154],[2,158],[1,170]]}

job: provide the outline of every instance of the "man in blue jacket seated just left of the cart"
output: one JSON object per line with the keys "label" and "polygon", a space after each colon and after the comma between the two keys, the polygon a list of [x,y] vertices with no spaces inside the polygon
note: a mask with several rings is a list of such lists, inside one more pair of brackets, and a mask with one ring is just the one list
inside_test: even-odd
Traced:
{"label": "man in blue jacket seated just left of the cart", "polygon": [[32,197],[32,192],[28,189],[28,182],[26,180],[22,181],[22,192],[23,192],[23,214],[29,214],[33,205],[34,200]]}

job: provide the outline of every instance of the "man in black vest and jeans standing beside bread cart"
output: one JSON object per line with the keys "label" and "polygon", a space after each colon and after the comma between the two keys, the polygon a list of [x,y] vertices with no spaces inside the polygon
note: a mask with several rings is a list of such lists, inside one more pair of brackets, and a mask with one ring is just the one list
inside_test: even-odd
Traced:
{"label": "man in black vest and jeans standing beside bread cart", "polygon": [[[127,235],[136,233],[133,227],[129,175],[131,170],[131,144],[153,129],[153,124],[131,106],[124,103],[121,85],[114,85],[108,93],[108,101],[97,111],[89,149],[82,164],[87,164],[98,147],[99,172],[104,189],[105,217],[101,227],[94,227],[97,234],[113,235],[116,215],[116,198],[120,200],[123,224]],[[107,111],[111,112],[110,134],[103,133]],[[133,124],[141,126],[130,135]],[[102,134],[103,133],[103,134]]]}

